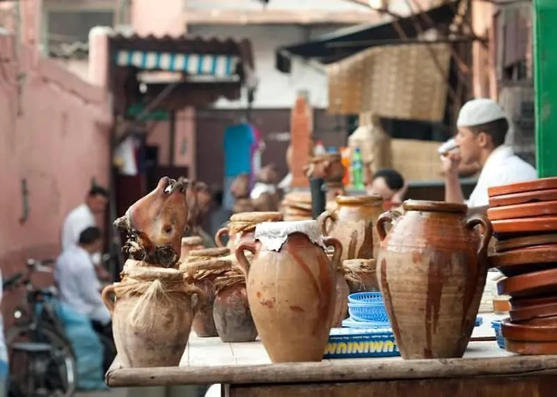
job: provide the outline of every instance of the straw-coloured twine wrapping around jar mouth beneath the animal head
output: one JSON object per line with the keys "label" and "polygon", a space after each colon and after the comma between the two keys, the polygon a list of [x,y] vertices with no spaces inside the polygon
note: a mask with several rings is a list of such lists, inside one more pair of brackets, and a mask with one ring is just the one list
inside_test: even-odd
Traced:
{"label": "straw-coloured twine wrapping around jar mouth beneath the animal head", "polygon": [[159,311],[153,310],[152,306],[173,306],[176,311],[183,310],[183,301],[189,298],[187,293],[191,292],[189,288],[183,280],[165,282],[161,279],[145,280],[127,276],[114,287],[114,293],[117,300],[136,298],[134,307],[127,315],[127,321],[134,329],[148,332],[155,327],[155,319],[159,316]]}

